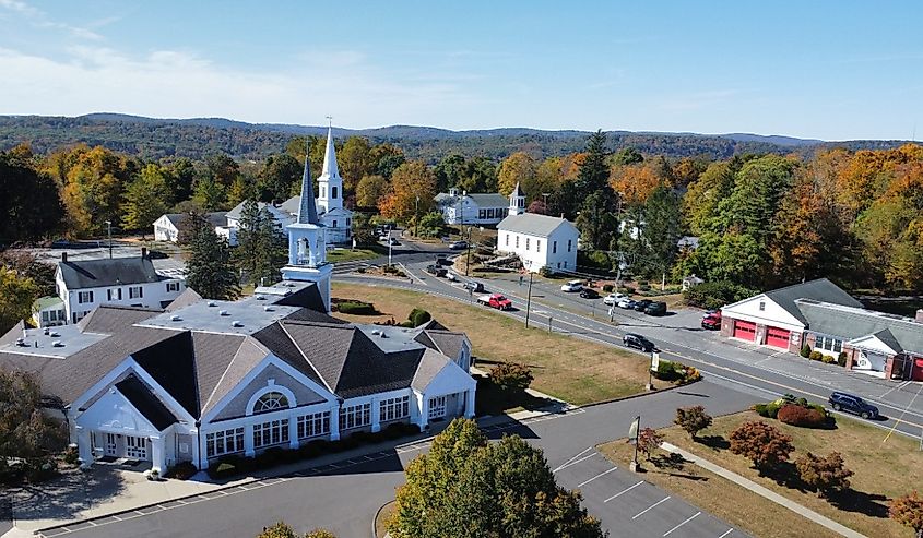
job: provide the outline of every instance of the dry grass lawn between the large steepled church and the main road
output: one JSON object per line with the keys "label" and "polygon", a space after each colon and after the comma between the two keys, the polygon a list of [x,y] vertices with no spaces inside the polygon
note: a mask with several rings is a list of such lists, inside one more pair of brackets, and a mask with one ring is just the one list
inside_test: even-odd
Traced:
{"label": "dry grass lawn between the large steepled church and the main road", "polygon": [[[524,362],[532,368],[532,387],[572,404],[589,404],[644,391],[647,358],[543,328],[526,330],[522,322],[485,307],[380,286],[333,283],[333,297],[375,303],[381,315],[335,314],[347,321],[372,323],[406,320],[417,307],[452,331],[468,334],[477,366],[497,361]],[[655,386],[667,383],[654,380]]]}

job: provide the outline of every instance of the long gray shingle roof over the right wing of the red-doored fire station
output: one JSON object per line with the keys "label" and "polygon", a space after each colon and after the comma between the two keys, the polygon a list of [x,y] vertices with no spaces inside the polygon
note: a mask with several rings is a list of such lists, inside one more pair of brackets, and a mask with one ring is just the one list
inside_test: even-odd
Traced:
{"label": "long gray shingle roof over the right wing of the red-doored fire station", "polygon": [[887,314],[863,308],[798,300],[797,307],[807,320],[812,332],[839,336],[851,340],[862,336],[876,335],[887,330],[879,339],[904,351],[923,354],[923,324],[909,318]]}

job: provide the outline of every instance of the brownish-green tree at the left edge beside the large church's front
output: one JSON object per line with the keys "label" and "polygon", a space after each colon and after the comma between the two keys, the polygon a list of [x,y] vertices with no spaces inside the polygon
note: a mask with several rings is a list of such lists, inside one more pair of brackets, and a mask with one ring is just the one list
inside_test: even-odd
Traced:
{"label": "brownish-green tree at the left edge beside the large church's front", "polygon": [[34,374],[0,369],[0,467],[9,458],[38,466],[64,449],[67,429],[43,413],[42,387]]}

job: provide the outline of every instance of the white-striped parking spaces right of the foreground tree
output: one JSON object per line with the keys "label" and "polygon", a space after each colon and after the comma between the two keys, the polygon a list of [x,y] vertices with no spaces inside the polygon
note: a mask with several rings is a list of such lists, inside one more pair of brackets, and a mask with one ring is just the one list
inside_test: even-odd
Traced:
{"label": "white-striped parking spaces right of the foreground tree", "polygon": [[558,483],[583,493],[583,505],[618,537],[738,538],[746,533],[616,467],[595,449],[555,469]]}

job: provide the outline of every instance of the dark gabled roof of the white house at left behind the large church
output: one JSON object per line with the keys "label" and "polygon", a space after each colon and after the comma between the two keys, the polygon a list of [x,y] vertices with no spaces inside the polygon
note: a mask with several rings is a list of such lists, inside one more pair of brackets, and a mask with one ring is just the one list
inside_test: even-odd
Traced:
{"label": "dark gabled roof of the white house at left behind the large church", "polygon": [[165,279],[147,258],[105,258],[58,263],[64,285],[70,290],[147,284]]}

